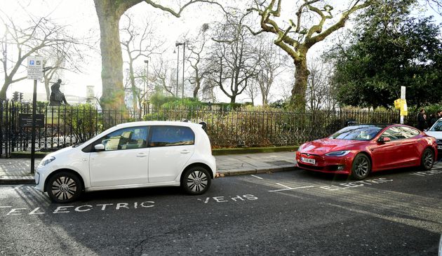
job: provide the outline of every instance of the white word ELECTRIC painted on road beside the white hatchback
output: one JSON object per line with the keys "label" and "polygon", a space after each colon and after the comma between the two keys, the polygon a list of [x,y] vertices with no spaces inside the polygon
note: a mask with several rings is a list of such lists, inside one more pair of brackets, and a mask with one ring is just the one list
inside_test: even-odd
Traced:
{"label": "white word ELECTRIC painted on road beside the white hatchback", "polygon": [[57,208],[43,209],[36,207],[29,208],[13,208],[13,206],[0,206],[0,215],[42,215],[42,214],[60,214],[60,213],[84,213],[90,210],[121,210],[121,209],[138,209],[138,208],[152,208],[154,201],[145,201],[142,203],[100,203],[96,205],[83,206],[58,206]]}

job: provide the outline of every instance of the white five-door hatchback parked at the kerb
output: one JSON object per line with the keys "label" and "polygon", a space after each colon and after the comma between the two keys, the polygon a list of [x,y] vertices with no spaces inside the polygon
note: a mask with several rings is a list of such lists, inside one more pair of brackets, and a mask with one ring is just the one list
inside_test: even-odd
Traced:
{"label": "white five-door hatchback parked at the kerb", "polygon": [[201,124],[122,123],[83,144],[48,154],[35,172],[36,189],[56,203],[82,191],[181,186],[203,194],[215,177],[215,157]]}

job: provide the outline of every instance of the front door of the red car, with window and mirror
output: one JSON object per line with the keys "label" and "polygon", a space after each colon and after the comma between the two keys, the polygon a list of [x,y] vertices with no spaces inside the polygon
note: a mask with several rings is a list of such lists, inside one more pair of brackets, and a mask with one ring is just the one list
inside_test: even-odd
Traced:
{"label": "front door of the red car, with window and mirror", "polygon": [[369,149],[372,154],[373,159],[373,169],[386,169],[386,168],[394,168],[396,166],[401,157],[400,151],[401,143],[399,142],[399,138],[396,137],[396,128],[391,127],[380,135],[380,137],[389,137],[389,142],[377,142],[377,144],[371,146]]}

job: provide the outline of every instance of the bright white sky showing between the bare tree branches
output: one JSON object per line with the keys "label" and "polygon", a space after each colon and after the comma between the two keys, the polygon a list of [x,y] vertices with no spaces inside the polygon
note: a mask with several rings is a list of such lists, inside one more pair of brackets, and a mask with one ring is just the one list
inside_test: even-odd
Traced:
{"label": "bright white sky showing between the bare tree branches", "polygon": [[[173,1],[168,1],[167,3],[173,3]],[[81,73],[64,72],[62,74],[62,92],[66,95],[86,97],[86,86],[94,86],[95,95],[101,95],[101,59],[99,53],[100,28],[98,26],[98,18],[95,13],[93,0],[0,0],[0,11],[0,15],[11,15],[12,13],[12,18],[18,24],[22,24],[26,20],[25,17],[28,17],[29,15],[34,17],[47,16],[59,24],[69,25],[68,29],[72,34],[79,37],[91,38],[91,41],[94,42],[93,46],[95,49],[88,50],[88,58],[86,58],[86,62],[80,67],[82,70]],[[164,13],[146,3],[138,4],[131,8],[128,13],[132,14],[138,22],[148,19],[155,23],[159,39],[165,42],[162,46],[165,51],[164,54],[166,55],[166,58],[173,63],[176,63],[176,55],[173,53],[173,50],[175,49],[175,41],[180,40],[181,36],[187,32],[197,31],[203,23],[210,24],[221,17],[220,10],[217,9],[216,6],[208,5],[191,6],[182,13],[181,18],[175,18],[175,16]],[[431,11],[431,9],[425,12],[422,12],[422,10],[415,10],[415,15],[422,15],[422,13],[424,13],[424,15],[434,15],[434,11]],[[440,15],[435,16],[438,22],[442,22]],[[348,27],[349,26],[347,26],[347,28]],[[0,26],[0,36],[3,34],[4,27]],[[310,58],[314,58],[315,55],[319,55],[323,49],[327,48],[330,40],[333,39],[327,39],[323,43],[316,44],[314,48],[309,51]],[[13,46],[8,46],[8,52],[11,51],[11,55],[13,55],[13,49],[11,48],[13,48]],[[143,61],[144,59],[138,60],[138,65],[143,65]],[[11,63],[8,63],[9,67],[11,67],[11,65]],[[151,62],[151,65],[155,64]],[[123,67],[123,70],[124,69],[126,69],[126,67]],[[25,72],[26,69],[22,69],[21,74],[26,74]],[[286,74],[286,78],[283,80],[285,83],[288,83],[290,79],[291,74]],[[0,83],[3,84],[3,76],[0,77]],[[8,97],[11,97],[13,91],[17,90],[25,93],[25,100],[27,100],[27,98],[30,99],[32,86],[32,80],[13,83],[8,89],[7,95]],[[287,93],[283,92],[283,90],[286,89],[287,88],[278,88],[275,86],[273,90],[274,96],[271,100],[278,100],[283,97],[282,94]],[[37,90],[38,93],[44,95],[45,89],[43,83],[38,83]],[[227,97],[219,92],[217,93],[217,99],[222,102],[229,101]],[[39,100],[46,99],[39,98]],[[239,101],[250,101],[250,99],[247,99],[246,95],[242,95],[239,97]],[[260,102],[260,97],[255,98],[255,102]]]}

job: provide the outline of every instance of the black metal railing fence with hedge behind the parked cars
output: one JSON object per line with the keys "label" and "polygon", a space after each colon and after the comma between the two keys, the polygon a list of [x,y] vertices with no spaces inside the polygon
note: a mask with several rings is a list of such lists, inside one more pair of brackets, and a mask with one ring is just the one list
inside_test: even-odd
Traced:
{"label": "black metal railing fence with hedge behind the parked cars", "polygon": [[[20,114],[32,113],[32,106],[20,102],[0,102],[0,156],[31,147],[30,128],[20,127]],[[118,123],[138,120],[138,112],[102,110],[91,105],[39,106],[44,125],[36,130],[36,150],[53,151],[84,142]],[[268,147],[295,145],[326,137],[347,125],[357,123],[399,123],[399,112],[336,110],[287,112],[283,109],[245,110],[224,107],[150,107],[143,120],[205,121],[213,148]],[[415,126],[415,114],[405,123]]]}

